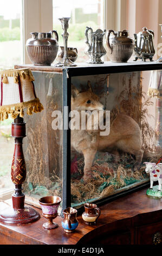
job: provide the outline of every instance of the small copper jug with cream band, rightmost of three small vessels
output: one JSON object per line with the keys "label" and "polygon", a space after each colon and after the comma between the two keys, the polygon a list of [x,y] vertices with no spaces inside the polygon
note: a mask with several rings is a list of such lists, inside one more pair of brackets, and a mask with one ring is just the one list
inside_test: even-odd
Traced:
{"label": "small copper jug with cream band, rightmost of three small vessels", "polygon": [[85,211],[82,214],[83,221],[87,225],[95,225],[100,216],[100,209],[96,204],[85,204]]}

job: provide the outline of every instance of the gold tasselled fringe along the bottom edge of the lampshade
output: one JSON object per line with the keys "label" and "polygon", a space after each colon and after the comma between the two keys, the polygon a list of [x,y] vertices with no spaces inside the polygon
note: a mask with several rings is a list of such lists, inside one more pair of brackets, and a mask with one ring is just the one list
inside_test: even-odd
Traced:
{"label": "gold tasselled fringe along the bottom edge of the lampshade", "polygon": [[12,104],[8,106],[0,106],[0,121],[8,119],[9,114],[11,114],[11,118],[16,118],[18,114],[20,117],[24,116],[23,109],[27,108],[27,114],[32,115],[33,112],[41,112],[44,108],[38,98],[34,100],[30,100],[28,102],[22,102],[17,104]]}

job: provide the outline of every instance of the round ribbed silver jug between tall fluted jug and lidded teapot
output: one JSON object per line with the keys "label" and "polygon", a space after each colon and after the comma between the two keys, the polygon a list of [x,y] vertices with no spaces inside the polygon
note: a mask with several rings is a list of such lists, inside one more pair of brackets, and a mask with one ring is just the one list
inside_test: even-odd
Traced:
{"label": "round ribbed silver jug between tall fluted jug and lidded teapot", "polygon": [[[111,36],[113,33],[114,36]],[[107,55],[112,62],[127,62],[134,50],[134,40],[128,36],[128,31],[106,32]]]}

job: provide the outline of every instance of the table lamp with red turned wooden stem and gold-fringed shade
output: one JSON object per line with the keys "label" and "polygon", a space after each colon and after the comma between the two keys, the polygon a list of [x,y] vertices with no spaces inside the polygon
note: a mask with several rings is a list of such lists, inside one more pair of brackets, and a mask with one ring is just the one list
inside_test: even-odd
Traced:
{"label": "table lamp with red turned wooden stem and gold-fringed shade", "polygon": [[11,179],[15,184],[12,194],[12,207],[0,212],[0,222],[10,225],[21,225],[34,222],[40,218],[36,210],[24,206],[25,195],[22,184],[26,177],[26,167],[23,155],[22,141],[25,135],[23,121],[24,109],[31,115],[43,109],[36,97],[34,77],[30,69],[11,69],[0,71],[0,121],[8,119],[9,114],[14,119],[11,136],[15,138],[15,151],[11,166]]}

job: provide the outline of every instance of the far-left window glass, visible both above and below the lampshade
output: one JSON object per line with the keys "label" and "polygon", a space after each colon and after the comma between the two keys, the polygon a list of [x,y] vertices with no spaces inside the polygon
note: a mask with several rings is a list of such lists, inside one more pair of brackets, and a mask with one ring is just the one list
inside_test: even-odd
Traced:
{"label": "far-left window glass, visible both above and below the lampshade", "polygon": [[[22,0],[0,1],[0,70],[22,63],[21,16]],[[11,118],[0,121],[0,193],[14,187],[10,174],[14,154],[11,122]]]}

